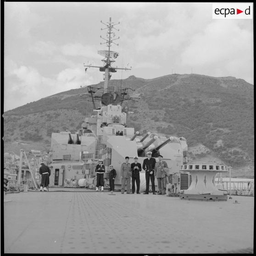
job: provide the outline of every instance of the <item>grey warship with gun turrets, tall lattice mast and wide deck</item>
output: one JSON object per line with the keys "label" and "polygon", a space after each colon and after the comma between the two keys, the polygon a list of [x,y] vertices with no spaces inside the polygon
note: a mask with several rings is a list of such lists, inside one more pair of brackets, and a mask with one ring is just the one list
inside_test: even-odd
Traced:
{"label": "grey warship with gun turrets, tall lattice mast and wide deck", "polygon": [[[48,191],[39,191],[37,170],[31,171],[29,164],[26,170],[20,164],[17,191],[8,193],[5,179],[4,252],[253,253],[254,197],[231,194],[231,186],[228,191],[216,183],[217,173],[230,173],[230,167],[190,164],[184,137],[139,134],[128,127],[127,117],[133,112],[122,103],[131,100],[129,89],[109,85],[112,73],[129,69],[113,67],[119,54],[110,49],[119,23],[110,18],[103,24],[107,50],[98,53],[104,65],[84,68],[104,72],[104,86],[83,87],[87,92],[81,96],[90,97],[94,114],[85,117],[77,132],[52,134],[46,161],[51,169]],[[120,166],[125,156],[130,160],[138,156],[142,163],[148,151],[167,162],[166,195],[121,194]],[[24,150],[20,157],[27,159]],[[99,159],[106,167],[103,191],[95,190]],[[108,185],[110,164],[117,170],[114,193]],[[140,180],[144,192],[143,170]]]}

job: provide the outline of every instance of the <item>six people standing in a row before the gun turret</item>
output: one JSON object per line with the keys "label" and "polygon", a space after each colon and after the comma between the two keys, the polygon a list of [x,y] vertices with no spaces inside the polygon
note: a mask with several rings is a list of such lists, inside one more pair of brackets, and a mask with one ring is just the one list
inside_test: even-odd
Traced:
{"label": "six people standing in a row before the gun turret", "polygon": [[[134,162],[129,163],[129,157],[125,157],[125,162],[122,163],[120,167],[120,176],[122,179],[122,185],[121,185],[121,194],[124,194],[125,186],[127,186],[127,192],[126,194],[134,194],[135,193],[135,183],[136,183],[136,193],[140,194],[139,188],[140,188],[140,178],[139,173],[141,170],[145,170],[145,180],[146,180],[146,190],[143,194],[148,195],[149,194],[149,185],[151,181],[151,188],[153,195],[156,195],[155,190],[155,177],[157,179],[157,185],[158,185],[158,195],[165,195],[165,189],[166,184],[168,183],[168,166],[167,162],[163,161],[163,157],[161,155],[158,156],[158,160],[156,162],[156,159],[154,157],[151,157],[152,153],[149,151],[147,152],[147,158],[144,159],[142,167],[141,164],[138,162],[138,156],[134,156]],[[115,178],[117,176],[116,170],[113,168],[113,165],[110,165],[110,172],[109,172],[109,186],[110,191],[114,191],[115,189]],[[99,190],[99,187],[101,186],[101,190],[103,190],[104,186],[104,173],[105,173],[105,167],[103,165],[103,160],[99,160],[99,164],[96,166],[95,172],[97,173],[97,184],[96,184],[96,191]],[[131,179],[132,179],[132,191],[130,189],[131,187]]]}

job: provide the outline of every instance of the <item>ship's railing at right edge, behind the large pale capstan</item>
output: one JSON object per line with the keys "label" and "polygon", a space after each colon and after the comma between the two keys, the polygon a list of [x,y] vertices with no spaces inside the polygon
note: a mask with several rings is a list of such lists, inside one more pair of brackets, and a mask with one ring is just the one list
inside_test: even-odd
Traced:
{"label": "ship's railing at right edge, behind the large pale capstan", "polygon": [[221,181],[216,182],[218,189],[227,190],[231,195],[254,196],[254,181]]}

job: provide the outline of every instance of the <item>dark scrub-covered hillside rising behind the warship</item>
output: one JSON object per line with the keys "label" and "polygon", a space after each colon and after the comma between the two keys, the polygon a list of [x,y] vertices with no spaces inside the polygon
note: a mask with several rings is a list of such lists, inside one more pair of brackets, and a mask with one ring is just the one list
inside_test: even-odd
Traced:
{"label": "dark scrub-covered hillside rising behind the warship", "polygon": [[[110,86],[120,87],[120,80]],[[103,83],[92,85],[103,87]],[[215,161],[233,167],[236,176],[254,176],[254,86],[233,77],[214,78],[197,74],[173,74],[154,79],[131,76],[122,80],[131,88],[124,101],[134,114],[128,126],[135,131],[183,136],[190,161]],[[81,128],[92,103],[72,89],[6,111],[4,151],[50,149],[52,132]],[[204,150],[202,150],[202,148]],[[234,177],[234,175],[233,175]]]}

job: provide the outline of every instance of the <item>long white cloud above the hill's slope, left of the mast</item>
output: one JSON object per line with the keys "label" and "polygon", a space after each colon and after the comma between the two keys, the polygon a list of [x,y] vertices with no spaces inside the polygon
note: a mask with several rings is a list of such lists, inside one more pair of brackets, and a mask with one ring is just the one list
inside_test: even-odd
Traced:
{"label": "long white cloud above the hill's slope, left of the mast", "polygon": [[[12,65],[17,66],[14,63]],[[15,79],[11,80],[11,77]],[[89,85],[94,83],[94,78],[81,73],[78,67],[67,68],[57,75],[57,79],[51,79],[41,76],[33,67],[21,66],[8,72],[6,82],[8,86],[5,86],[4,111],[61,91],[77,89],[80,85]]]}

